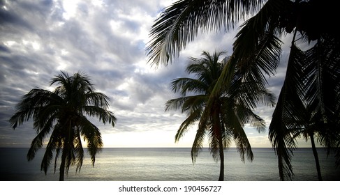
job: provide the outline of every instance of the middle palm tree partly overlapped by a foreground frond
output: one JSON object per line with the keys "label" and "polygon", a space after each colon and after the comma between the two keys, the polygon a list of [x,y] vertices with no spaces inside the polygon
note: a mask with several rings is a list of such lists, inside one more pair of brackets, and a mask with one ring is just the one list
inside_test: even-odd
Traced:
{"label": "middle palm tree partly overlapped by a foreground frond", "polygon": [[[219,79],[226,59],[219,61],[225,52],[202,52],[202,59],[190,58],[186,72],[194,74],[195,78],[179,78],[172,81],[172,91],[180,92],[182,97],[168,100],[165,104],[165,111],[181,109],[187,114],[186,120],[180,125],[175,136],[179,141],[184,134],[195,123],[199,123],[198,130],[191,148],[191,157],[195,163],[196,157],[202,150],[205,136],[209,137],[209,148],[216,162],[221,161],[219,180],[224,180],[224,148],[228,148],[232,140],[244,162],[246,153],[248,159],[253,160],[251,145],[244,132],[244,125],[251,123],[259,132],[265,130],[265,122],[262,118],[253,113],[252,109],[256,102],[274,104],[273,96],[264,88],[260,88],[255,82],[244,81],[241,77],[234,78],[229,91],[221,93],[214,100],[214,107],[209,109],[209,115],[202,117],[205,111],[209,95],[212,93],[216,81]],[[253,93],[246,94],[246,90],[253,90]],[[190,95],[187,95],[187,94]],[[245,96],[247,95],[247,99]],[[262,98],[260,98],[262,97]]]}

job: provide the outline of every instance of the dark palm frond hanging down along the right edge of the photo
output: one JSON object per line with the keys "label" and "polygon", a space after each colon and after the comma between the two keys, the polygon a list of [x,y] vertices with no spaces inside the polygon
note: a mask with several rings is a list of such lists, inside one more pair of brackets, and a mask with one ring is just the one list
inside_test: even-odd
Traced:
{"label": "dark palm frond hanging down along the right edge of the photo", "polygon": [[[322,39],[304,52],[305,101],[310,114],[309,126],[327,155],[339,150],[340,54],[337,40]],[[338,44],[339,45],[339,44]],[[337,49],[338,47],[338,49]],[[337,153],[337,152],[335,152]],[[339,159],[336,162],[339,165]]]}

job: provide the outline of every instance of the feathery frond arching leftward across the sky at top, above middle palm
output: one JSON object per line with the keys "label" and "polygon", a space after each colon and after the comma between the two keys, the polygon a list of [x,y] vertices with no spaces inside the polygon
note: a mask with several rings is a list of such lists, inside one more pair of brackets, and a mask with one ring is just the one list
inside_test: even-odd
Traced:
{"label": "feathery frond arching leftward across the sky at top, above middle palm", "polygon": [[151,26],[147,56],[153,64],[172,62],[198,31],[230,29],[265,1],[182,0],[172,3]]}

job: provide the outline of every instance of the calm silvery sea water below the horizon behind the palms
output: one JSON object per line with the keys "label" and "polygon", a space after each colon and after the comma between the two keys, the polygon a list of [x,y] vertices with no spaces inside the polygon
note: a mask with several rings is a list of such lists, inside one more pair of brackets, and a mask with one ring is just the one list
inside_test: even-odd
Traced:
{"label": "calm silvery sea water below the horizon behind the palms", "polygon": [[[96,157],[84,159],[80,173],[71,168],[65,180],[73,181],[216,181],[219,163],[214,162],[205,148],[193,165],[191,148],[104,148]],[[59,180],[59,169],[54,164],[47,175],[40,171],[44,149],[35,159],[27,162],[28,148],[0,148],[1,180],[54,181]],[[253,148],[253,162],[242,162],[235,148],[225,152],[225,180],[272,181],[279,180],[277,158],[272,148]],[[324,180],[340,180],[340,167],[334,166],[334,158],[326,157],[325,150],[318,148],[321,173]],[[60,162],[60,161],[59,161]],[[295,181],[318,180],[311,148],[295,150],[293,157]],[[58,166],[59,167],[59,164]]]}

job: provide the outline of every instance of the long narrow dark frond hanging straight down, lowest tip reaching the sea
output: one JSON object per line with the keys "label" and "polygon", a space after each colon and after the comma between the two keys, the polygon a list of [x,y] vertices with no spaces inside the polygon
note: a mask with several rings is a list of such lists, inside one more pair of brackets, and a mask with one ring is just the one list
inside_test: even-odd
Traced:
{"label": "long narrow dark frond hanging straight down, lowest tip reaching the sea", "polygon": [[296,131],[304,125],[305,107],[301,99],[303,87],[299,82],[304,54],[294,44],[291,48],[286,78],[273,113],[272,122],[269,125],[269,140],[279,158],[281,180],[286,177],[291,179],[294,176],[290,159],[296,148],[296,143],[292,134],[296,134]]}

